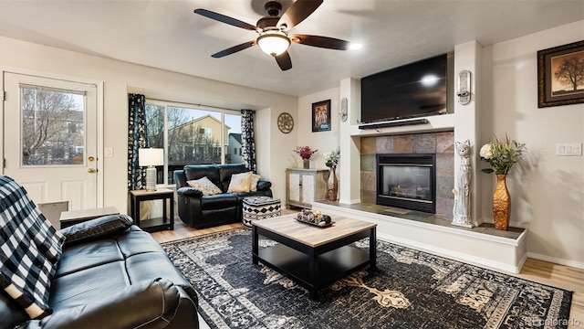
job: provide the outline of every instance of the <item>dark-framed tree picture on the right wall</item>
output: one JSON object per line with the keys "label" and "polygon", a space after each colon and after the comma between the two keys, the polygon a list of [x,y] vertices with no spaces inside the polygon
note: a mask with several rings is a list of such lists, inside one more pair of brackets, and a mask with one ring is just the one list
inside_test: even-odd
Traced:
{"label": "dark-framed tree picture on the right wall", "polygon": [[537,51],[537,107],[584,103],[584,40]]}

